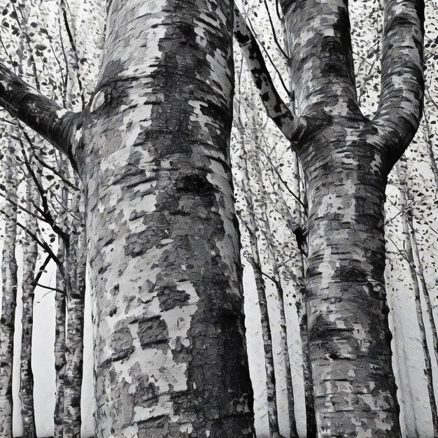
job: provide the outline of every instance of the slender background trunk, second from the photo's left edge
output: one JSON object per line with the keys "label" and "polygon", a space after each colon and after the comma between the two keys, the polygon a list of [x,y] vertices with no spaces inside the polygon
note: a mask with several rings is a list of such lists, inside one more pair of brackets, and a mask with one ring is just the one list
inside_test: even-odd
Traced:
{"label": "slender background trunk, second from the photo's left edge", "polygon": [[[35,188],[31,182],[27,184],[27,210],[33,211]],[[29,215],[26,224],[31,232],[36,231],[36,218]],[[35,411],[34,411],[34,373],[32,372],[32,332],[34,327],[34,276],[36,260],[38,258],[38,244],[29,234],[23,239],[23,280],[22,280],[22,337],[20,360],[20,396],[21,414],[23,422],[23,435],[27,438],[36,437]]]}

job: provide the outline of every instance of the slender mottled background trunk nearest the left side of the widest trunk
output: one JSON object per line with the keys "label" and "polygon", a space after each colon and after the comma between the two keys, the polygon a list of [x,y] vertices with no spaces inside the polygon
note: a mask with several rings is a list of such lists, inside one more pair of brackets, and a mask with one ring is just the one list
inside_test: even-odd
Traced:
{"label": "slender mottled background trunk nearest the left side of the widest trunk", "polygon": [[[71,211],[81,216],[78,195]],[[86,234],[80,226],[71,232],[66,251],[66,369],[64,374],[64,438],[80,438],[80,395],[83,377]]]}

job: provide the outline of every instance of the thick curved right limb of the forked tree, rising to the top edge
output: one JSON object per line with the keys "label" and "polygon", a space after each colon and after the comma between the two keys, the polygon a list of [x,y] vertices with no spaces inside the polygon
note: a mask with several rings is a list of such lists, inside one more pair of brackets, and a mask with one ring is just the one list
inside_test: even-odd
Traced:
{"label": "thick curved right limb of the forked tree, rising to the top edge", "polygon": [[423,112],[423,0],[383,0],[381,97],[374,125],[390,167],[414,138]]}

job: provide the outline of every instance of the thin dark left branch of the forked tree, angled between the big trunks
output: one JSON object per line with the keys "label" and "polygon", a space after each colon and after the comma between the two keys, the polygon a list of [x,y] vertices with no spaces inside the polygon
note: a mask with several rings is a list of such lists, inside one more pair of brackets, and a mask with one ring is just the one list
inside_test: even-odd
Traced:
{"label": "thin dark left branch of the forked tree, angled between the big trunks", "polygon": [[292,114],[278,94],[255,36],[237,6],[234,7],[234,37],[241,47],[267,114],[289,141],[298,141],[306,124]]}

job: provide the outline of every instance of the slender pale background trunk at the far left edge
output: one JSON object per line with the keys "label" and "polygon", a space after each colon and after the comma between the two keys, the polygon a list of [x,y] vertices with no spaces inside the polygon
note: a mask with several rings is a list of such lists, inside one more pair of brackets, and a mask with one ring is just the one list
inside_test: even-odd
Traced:
{"label": "slender pale background trunk at the far left edge", "polygon": [[[5,160],[5,182],[8,198],[16,203],[17,183],[13,160]],[[1,319],[0,319],[0,437],[12,438],[12,370],[15,331],[15,307],[17,306],[17,260],[15,239],[17,236],[17,210],[6,202],[3,255],[1,259]]]}

